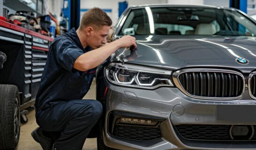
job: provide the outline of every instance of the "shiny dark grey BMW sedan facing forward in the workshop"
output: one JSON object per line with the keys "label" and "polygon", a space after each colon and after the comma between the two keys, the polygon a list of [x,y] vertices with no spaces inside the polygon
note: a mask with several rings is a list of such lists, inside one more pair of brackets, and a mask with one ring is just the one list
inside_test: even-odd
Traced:
{"label": "shiny dark grey BMW sedan facing forward in the workshop", "polygon": [[256,150],[256,22],[234,8],[130,7],[97,70],[98,149]]}

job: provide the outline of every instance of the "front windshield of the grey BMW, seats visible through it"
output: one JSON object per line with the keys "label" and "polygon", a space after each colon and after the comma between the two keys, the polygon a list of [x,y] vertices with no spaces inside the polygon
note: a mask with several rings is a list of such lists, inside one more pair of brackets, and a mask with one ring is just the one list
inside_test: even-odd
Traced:
{"label": "front windshield of the grey BMW, seats visible through it", "polygon": [[118,35],[255,36],[255,29],[255,23],[236,10],[145,7],[132,9]]}

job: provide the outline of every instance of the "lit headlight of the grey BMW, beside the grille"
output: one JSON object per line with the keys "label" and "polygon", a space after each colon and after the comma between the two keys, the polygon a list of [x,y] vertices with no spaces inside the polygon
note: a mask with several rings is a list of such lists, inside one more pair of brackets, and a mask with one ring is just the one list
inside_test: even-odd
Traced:
{"label": "lit headlight of the grey BMW, beside the grille", "polygon": [[159,86],[173,86],[171,71],[139,65],[111,63],[105,67],[105,76],[109,82],[144,89]]}

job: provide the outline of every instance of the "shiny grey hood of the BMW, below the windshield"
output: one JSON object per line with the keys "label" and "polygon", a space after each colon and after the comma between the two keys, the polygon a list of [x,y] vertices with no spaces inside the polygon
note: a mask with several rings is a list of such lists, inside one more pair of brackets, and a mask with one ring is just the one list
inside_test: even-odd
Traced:
{"label": "shiny grey hood of the BMW, below the windshield", "polygon": [[[137,50],[119,49],[112,61],[177,70],[222,67],[249,73],[256,69],[256,38],[234,36],[137,36]],[[242,57],[249,61],[240,64]]]}

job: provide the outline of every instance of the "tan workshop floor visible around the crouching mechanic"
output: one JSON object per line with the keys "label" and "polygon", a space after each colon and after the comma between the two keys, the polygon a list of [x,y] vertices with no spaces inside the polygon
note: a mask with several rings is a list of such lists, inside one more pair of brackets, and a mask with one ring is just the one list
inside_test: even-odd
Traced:
{"label": "tan workshop floor visible around the crouching mechanic", "polygon": [[[96,99],[95,83],[95,80],[93,80],[91,89],[88,91],[84,99]],[[40,144],[34,141],[31,136],[31,132],[38,127],[35,119],[35,110],[31,109],[27,114],[27,117],[28,122],[21,126],[20,141],[16,150],[42,150]],[[83,150],[97,150],[96,138],[86,139]]]}

